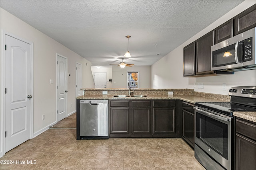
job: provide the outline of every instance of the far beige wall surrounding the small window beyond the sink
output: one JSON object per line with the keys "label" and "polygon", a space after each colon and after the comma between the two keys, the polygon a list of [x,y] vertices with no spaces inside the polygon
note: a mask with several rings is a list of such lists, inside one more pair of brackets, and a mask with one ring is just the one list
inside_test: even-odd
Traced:
{"label": "far beige wall surrounding the small window beyond the sink", "polygon": [[151,66],[117,67],[112,66],[112,88],[127,88],[127,71],[139,72],[139,88],[150,88]]}

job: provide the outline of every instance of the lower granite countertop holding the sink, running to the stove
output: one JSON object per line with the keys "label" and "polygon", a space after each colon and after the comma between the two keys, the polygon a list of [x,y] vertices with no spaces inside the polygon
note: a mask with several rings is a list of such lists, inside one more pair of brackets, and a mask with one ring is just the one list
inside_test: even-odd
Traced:
{"label": "lower granite countertop holding the sink, running to the stove", "polygon": [[219,100],[206,98],[195,95],[147,95],[145,98],[138,97],[113,97],[114,95],[84,95],[76,97],[77,100],[182,100],[189,103],[196,102],[229,102],[227,100]]}

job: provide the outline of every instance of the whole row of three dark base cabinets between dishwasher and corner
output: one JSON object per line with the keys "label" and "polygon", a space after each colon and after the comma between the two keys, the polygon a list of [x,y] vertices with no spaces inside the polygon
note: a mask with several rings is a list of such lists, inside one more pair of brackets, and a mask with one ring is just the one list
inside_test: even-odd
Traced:
{"label": "whole row of three dark base cabinets between dishwasher and corner", "polygon": [[110,137],[180,137],[175,100],[110,100]]}

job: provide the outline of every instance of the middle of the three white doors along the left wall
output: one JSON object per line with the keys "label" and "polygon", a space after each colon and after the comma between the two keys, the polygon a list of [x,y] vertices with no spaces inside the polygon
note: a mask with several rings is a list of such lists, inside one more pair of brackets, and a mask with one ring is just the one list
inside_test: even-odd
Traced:
{"label": "middle of the three white doors along the left wall", "polygon": [[57,55],[57,121],[67,117],[67,58]]}

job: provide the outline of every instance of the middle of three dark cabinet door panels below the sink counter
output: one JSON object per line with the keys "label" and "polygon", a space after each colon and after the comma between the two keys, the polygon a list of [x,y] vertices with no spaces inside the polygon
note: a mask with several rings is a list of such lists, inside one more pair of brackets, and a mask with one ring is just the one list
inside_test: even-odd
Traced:
{"label": "middle of three dark cabinet door panels below the sink counter", "polygon": [[132,134],[151,134],[149,108],[132,108]]}

